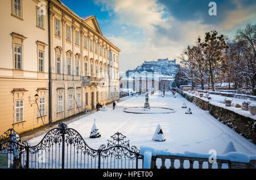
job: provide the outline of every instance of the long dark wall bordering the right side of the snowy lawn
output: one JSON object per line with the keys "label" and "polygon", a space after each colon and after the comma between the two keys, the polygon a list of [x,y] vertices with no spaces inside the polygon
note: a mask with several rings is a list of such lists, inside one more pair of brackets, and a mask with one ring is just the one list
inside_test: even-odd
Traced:
{"label": "long dark wall bordering the right side of the snowy lawn", "polygon": [[214,106],[213,104],[210,104],[209,101],[188,95],[179,89],[173,90],[177,91],[177,93],[188,99],[188,101],[196,104],[201,109],[209,111],[210,115],[214,116],[214,118],[228,125],[228,127],[234,129],[237,133],[240,133],[242,136],[252,140],[254,144],[256,144],[256,129],[254,119],[237,114],[236,112],[227,110],[226,108]]}

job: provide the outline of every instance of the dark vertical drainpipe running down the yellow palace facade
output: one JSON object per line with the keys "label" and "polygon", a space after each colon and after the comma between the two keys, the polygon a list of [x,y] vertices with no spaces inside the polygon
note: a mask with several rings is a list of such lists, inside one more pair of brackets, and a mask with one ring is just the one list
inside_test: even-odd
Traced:
{"label": "dark vertical drainpipe running down the yellow palace facade", "polygon": [[49,124],[52,124],[52,86],[51,86],[51,81],[52,81],[52,72],[51,72],[51,9],[50,9],[50,4],[51,0],[48,1],[48,68],[49,68]]}

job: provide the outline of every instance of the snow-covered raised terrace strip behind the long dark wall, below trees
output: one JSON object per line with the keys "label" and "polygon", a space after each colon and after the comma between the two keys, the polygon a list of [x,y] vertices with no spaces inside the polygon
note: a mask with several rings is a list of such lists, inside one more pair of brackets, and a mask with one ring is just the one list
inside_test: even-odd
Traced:
{"label": "snow-covered raised terrace strip behind the long dark wall, below trees", "polygon": [[[184,93],[187,93],[188,95],[192,95],[197,98],[200,98],[199,95],[188,93],[188,91],[184,91]],[[203,93],[203,94],[205,95],[206,93]],[[216,94],[209,94],[209,96],[212,98],[211,100],[208,100],[207,98],[204,98],[204,97],[202,97],[200,99],[203,99],[204,101],[209,101],[210,104],[213,104],[214,106],[226,108],[230,111],[236,112],[237,114],[240,114],[240,115],[243,115],[243,116],[246,116],[246,117],[256,120],[256,115],[251,115],[250,111],[245,111],[245,110],[242,110],[241,108],[235,107],[237,103],[241,105],[244,101],[246,101],[246,99],[229,98],[229,97],[224,97],[222,95],[216,95]],[[232,99],[232,106],[227,107],[223,103],[225,101],[225,99]],[[253,100],[250,100],[250,102],[251,102],[251,104],[256,103],[256,101],[253,101]]]}

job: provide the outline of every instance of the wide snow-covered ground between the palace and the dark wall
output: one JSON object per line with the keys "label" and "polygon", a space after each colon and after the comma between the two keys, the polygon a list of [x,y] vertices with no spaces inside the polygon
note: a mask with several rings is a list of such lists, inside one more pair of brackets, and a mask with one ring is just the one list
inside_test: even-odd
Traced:
{"label": "wide snow-covered ground between the palace and the dark wall", "polygon": [[[215,149],[217,154],[222,154],[229,144],[233,142],[237,152],[248,155],[256,155],[256,145],[245,137],[239,135],[233,129],[222,124],[213,118],[208,111],[201,110],[187,99],[171,93],[166,93],[165,97],[158,93],[151,95],[150,106],[167,107],[176,110],[171,114],[130,114],[123,112],[125,107],[143,106],[145,95],[127,98],[118,102],[115,110],[108,107],[108,111],[98,111],[86,116],[76,122],[68,124],[68,127],[76,129],[86,143],[95,149],[101,144],[106,144],[110,136],[116,132],[121,132],[130,140],[130,146],[149,146],[155,149],[168,149],[169,152],[183,153],[185,151],[208,154],[210,149]],[[181,108],[183,103],[190,107],[193,114],[185,114],[186,108]],[[96,119],[101,137],[90,139],[90,131]],[[152,141],[155,129],[160,124],[163,129],[166,141]],[[35,137],[28,141],[35,145],[44,135]]]}

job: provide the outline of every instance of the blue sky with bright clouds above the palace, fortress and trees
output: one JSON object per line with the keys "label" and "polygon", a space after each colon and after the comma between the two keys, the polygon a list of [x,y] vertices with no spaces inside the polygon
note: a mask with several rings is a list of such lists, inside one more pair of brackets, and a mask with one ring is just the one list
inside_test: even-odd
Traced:
{"label": "blue sky with bright clouds above the palace, fortress and trees", "polygon": [[102,34],[121,49],[120,71],[144,60],[178,59],[187,45],[217,30],[232,39],[238,28],[256,23],[256,1],[216,0],[61,0],[79,16],[95,15]]}

